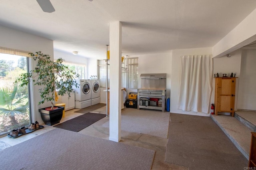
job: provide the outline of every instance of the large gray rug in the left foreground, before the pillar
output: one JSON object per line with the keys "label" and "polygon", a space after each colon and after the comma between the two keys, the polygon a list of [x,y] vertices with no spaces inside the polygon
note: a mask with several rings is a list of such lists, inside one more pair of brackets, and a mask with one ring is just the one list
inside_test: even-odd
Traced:
{"label": "large gray rug in the left foreground, before the pillar", "polygon": [[154,150],[56,128],[0,151],[4,170],[150,170]]}

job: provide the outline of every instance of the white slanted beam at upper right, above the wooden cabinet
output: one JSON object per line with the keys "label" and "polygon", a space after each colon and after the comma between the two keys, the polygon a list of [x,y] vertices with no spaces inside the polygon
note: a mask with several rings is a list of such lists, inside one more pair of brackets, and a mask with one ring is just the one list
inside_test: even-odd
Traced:
{"label": "white slanted beam at upper right, above the wooden cabinet", "polygon": [[255,20],[256,9],[212,47],[213,57],[221,57],[254,42],[256,40]]}

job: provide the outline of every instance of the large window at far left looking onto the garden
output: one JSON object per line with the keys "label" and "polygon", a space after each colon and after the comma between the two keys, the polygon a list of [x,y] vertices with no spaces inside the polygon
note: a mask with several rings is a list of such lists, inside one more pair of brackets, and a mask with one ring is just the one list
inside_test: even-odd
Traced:
{"label": "large window at far left looking onto the garden", "polygon": [[28,57],[0,53],[0,135],[30,125],[28,87],[14,84],[28,72]]}

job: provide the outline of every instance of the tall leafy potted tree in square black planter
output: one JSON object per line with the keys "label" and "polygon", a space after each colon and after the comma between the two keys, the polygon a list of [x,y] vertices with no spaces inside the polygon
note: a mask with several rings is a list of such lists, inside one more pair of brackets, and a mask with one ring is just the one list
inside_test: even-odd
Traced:
{"label": "tall leafy potted tree in square black planter", "polygon": [[62,58],[52,61],[50,55],[43,54],[41,51],[29,54],[35,61],[38,61],[36,68],[28,73],[20,74],[14,83],[20,82],[19,86],[23,87],[32,80],[34,85],[41,87],[39,89],[41,100],[38,105],[47,101],[51,102],[52,106],[39,109],[39,112],[46,125],[54,125],[60,122],[64,110],[64,107],[54,106],[56,89],[58,89],[58,95],[68,94],[70,97],[73,87],[78,87],[75,78],[79,75],[68,69],[62,63],[64,61]]}

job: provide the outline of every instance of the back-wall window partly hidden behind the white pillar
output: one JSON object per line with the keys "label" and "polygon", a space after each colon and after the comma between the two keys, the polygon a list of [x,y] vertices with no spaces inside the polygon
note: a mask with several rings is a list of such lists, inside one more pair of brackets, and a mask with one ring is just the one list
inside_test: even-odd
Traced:
{"label": "back-wall window partly hidden behind the white pillar", "polygon": [[[108,61],[111,66],[111,61]],[[108,87],[109,72],[108,67]],[[106,60],[98,60],[98,77],[100,78],[100,87],[106,88]],[[122,63],[122,87],[128,89],[138,88],[138,58],[127,58]]]}

